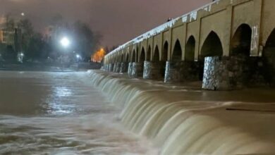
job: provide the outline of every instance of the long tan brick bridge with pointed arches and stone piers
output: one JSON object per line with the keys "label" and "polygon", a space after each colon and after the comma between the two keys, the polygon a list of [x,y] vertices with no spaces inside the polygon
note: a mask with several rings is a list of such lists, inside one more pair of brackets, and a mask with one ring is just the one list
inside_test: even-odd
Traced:
{"label": "long tan brick bridge with pointed arches and stone piers", "polygon": [[220,0],[119,46],[104,70],[204,89],[275,83],[275,1]]}

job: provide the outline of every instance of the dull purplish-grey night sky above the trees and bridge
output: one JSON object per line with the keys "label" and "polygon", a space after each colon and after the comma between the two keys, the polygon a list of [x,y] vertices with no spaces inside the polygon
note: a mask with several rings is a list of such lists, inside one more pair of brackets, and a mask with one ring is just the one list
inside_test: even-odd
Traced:
{"label": "dull purplish-grey night sky above the trees and bridge", "polygon": [[104,38],[102,46],[123,44],[143,32],[212,0],[0,0],[0,13],[24,12],[37,30],[57,14],[69,23],[82,20]]}

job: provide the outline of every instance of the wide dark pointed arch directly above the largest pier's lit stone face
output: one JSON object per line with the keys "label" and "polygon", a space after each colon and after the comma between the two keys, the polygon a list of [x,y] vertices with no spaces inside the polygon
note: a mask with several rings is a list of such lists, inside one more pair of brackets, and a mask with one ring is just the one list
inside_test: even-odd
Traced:
{"label": "wide dark pointed arch directly above the largest pier's lit stone face", "polygon": [[200,58],[203,59],[206,56],[223,56],[221,39],[214,31],[209,33],[200,50]]}

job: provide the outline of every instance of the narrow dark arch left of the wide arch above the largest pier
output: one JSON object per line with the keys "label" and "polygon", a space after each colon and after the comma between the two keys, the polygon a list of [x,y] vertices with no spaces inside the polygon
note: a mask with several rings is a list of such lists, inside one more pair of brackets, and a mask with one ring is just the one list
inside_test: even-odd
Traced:
{"label": "narrow dark arch left of the wide arch above the largest pier", "polygon": [[195,59],[195,37],[191,35],[185,45],[185,55],[184,60],[185,61],[194,61]]}

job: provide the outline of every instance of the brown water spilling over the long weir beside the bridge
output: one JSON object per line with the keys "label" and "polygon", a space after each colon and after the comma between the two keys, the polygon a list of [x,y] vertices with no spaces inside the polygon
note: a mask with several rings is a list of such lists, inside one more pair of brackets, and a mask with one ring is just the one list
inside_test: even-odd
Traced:
{"label": "brown water spilling over the long weir beside the bridge", "polygon": [[101,71],[90,75],[123,106],[126,128],[152,140],[160,154],[275,154],[274,89],[207,92]]}

